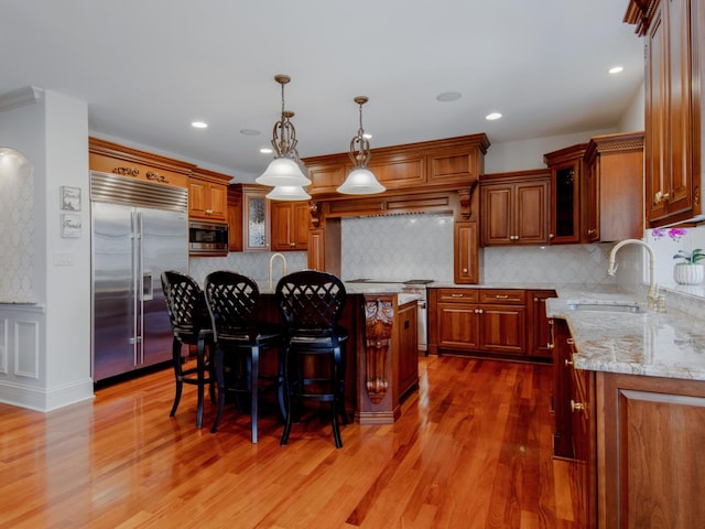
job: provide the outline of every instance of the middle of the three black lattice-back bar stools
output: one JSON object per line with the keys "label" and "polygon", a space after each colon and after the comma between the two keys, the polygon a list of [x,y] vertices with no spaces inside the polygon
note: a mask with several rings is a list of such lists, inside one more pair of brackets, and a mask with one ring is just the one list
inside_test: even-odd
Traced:
{"label": "middle of the three black lattice-back bar stools", "polygon": [[[251,402],[252,443],[257,443],[259,392],[275,389],[284,414],[283,354],[279,354],[276,375],[260,373],[260,352],[281,349],[282,333],[279,328],[258,324],[260,292],[250,278],[225,270],[213,272],[206,277],[204,290],[215,332],[214,364],[218,384],[218,413],[210,431],[216,433],[218,430],[226,392],[247,393]],[[237,402],[240,407],[239,399]]]}

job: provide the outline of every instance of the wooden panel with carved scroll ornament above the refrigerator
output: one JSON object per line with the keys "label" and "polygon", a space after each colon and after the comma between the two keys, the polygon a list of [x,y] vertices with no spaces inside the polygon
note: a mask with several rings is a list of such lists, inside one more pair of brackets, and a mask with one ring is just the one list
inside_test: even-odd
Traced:
{"label": "wooden panel with carved scroll ornament above the refrigerator", "polygon": [[191,174],[196,169],[192,163],[97,138],[88,139],[88,166],[93,171],[178,187],[188,187]]}

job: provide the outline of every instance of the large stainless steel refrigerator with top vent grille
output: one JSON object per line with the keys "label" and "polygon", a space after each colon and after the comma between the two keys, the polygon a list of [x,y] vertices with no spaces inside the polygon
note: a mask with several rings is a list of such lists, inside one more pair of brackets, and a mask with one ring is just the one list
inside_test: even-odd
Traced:
{"label": "large stainless steel refrigerator with top vent grille", "polygon": [[171,359],[164,270],[188,271],[187,191],[90,174],[93,378]]}

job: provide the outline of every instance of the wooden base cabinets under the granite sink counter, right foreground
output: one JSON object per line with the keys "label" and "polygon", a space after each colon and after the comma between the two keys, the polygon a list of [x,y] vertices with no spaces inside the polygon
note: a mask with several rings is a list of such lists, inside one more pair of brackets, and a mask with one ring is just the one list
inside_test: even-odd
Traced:
{"label": "wooden base cabinets under the granite sink counter, right foreground", "polygon": [[702,527],[705,382],[575,369],[567,325],[553,331],[554,455],[572,458],[575,527]]}

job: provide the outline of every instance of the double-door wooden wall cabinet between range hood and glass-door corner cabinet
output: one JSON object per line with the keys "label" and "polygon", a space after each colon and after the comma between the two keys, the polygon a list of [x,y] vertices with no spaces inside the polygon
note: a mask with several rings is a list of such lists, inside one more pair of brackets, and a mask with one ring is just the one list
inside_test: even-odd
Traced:
{"label": "double-door wooden wall cabinet between range hood and glass-door corner cabinet", "polygon": [[547,245],[550,180],[547,171],[481,176],[482,246]]}

